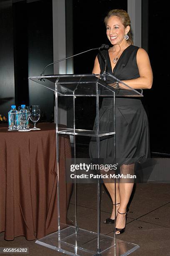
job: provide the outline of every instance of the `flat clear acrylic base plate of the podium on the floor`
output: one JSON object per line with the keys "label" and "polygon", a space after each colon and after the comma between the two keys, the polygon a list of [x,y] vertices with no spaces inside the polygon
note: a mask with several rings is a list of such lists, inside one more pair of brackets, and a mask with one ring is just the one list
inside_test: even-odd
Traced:
{"label": "flat clear acrylic base plate of the podium on the floor", "polygon": [[97,233],[81,228],[76,233],[73,226],[67,226],[67,228],[60,230],[60,241],[58,241],[57,231],[37,240],[35,243],[67,255],[79,256],[103,256],[108,254],[125,256],[139,248],[137,244],[100,234],[100,252],[97,252]]}

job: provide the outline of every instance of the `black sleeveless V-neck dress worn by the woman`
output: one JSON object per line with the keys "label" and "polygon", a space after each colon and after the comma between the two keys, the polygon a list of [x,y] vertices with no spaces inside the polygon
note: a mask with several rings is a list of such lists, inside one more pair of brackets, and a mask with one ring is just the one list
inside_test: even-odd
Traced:
{"label": "black sleeveless V-neck dress worn by the woman", "polygon": [[[107,61],[107,72],[120,80],[130,80],[140,77],[136,55],[137,46],[130,45],[126,48],[118,59],[113,71],[110,63],[108,50],[103,50],[102,54]],[[105,69],[105,63],[97,55],[101,72]],[[107,159],[108,163],[113,163],[114,150],[118,164],[132,164],[150,157],[149,125],[146,112],[140,98],[117,97],[115,99],[116,115],[116,146],[114,148],[113,137],[103,137],[100,141],[100,158]],[[94,124],[95,127],[95,124]],[[100,108],[100,130],[113,131],[113,100],[105,97]],[[90,158],[96,156],[96,142],[91,139],[89,145]]]}

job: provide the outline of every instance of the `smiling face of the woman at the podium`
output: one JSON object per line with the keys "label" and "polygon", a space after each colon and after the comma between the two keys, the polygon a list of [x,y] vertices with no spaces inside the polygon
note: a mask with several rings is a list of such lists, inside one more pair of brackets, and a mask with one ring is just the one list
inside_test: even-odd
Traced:
{"label": "smiling face of the woman at the podium", "polygon": [[110,18],[108,18],[107,26],[106,26],[106,34],[110,43],[113,45],[121,44],[125,34],[128,33],[129,28],[130,28],[129,26],[125,28],[120,18],[118,18],[117,16],[111,16]]}

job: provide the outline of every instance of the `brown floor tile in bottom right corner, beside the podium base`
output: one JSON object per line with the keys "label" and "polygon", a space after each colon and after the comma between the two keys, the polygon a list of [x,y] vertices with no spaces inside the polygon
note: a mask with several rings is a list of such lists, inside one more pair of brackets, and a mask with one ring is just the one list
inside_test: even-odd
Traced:
{"label": "brown floor tile in bottom right corner, beside the podium base", "polygon": [[[112,236],[112,233],[108,236]],[[117,238],[140,246],[131,254],[134,256],[170,255],[170,228],[134,220],[126,225],[125,233]]]}

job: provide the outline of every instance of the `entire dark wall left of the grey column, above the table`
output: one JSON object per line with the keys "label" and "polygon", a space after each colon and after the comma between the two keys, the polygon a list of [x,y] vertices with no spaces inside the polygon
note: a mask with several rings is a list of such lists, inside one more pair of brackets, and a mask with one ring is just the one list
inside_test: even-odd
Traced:
{"label": "entire dark wall left of the grey column, above the table", "polygon": [[[10,105],[40,105],[43,119],[53,112],[53,92],[29,82],[53,61],[52,0],[0,2],[0,114]],[[53,74],[53,67],[47,70]]]}

